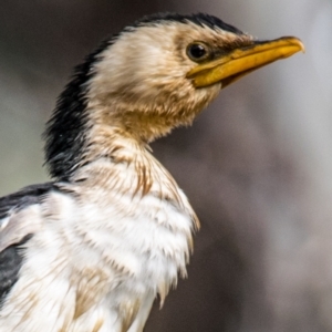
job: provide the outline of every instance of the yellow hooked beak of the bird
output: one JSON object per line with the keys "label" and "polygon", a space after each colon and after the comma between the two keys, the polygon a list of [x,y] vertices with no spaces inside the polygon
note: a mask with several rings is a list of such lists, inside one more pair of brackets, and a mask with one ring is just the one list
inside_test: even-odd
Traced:
{"label": "yellow hooked beak of the bird", "polygon": [[239,46],[226,56],[198,64],[187,74],[196,87],[221,83],[221,89],[250,72],[292,54],[304,52],[303,43],[294,37],[271,41],[256,41],[252,45]]}

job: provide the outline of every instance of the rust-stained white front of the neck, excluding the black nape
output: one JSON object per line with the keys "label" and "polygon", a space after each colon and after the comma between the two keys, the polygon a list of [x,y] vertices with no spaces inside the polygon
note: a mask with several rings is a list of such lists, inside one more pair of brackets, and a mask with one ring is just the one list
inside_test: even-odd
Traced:
{"label": "rust-stained white front of the neck, excluding the black nape", "polygon": [[186,197],[147,145],[118,127],[106,125],[94,126],[91,136],[94,139],[90,141],[84,162],[71,178],[73,184],[91,191],[91,199],[100,197],[95,193],[104,193],[112,203],[117,201],[113,197],[116,196],[128,197],[134,204],[151,196],[189,211],[198,228],[198,219]]}

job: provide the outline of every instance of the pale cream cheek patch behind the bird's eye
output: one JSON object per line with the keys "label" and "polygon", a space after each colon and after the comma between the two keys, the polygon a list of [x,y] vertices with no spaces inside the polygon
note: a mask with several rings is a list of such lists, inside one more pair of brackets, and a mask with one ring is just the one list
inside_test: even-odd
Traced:
{"label": "pale cream cheek patch behind the bird's eye", "polygon": [[[95,65],[90,91],[92,94],[127,92],[149,98],[160,92],[160,87],[185,80],[193,64],[177,59],[175,48],[176,27],[167,31],[153,27],[141,27],[134,33],[123,33],[116,42],[101,55]],[[163,31],[165,33],[163,33]]]}

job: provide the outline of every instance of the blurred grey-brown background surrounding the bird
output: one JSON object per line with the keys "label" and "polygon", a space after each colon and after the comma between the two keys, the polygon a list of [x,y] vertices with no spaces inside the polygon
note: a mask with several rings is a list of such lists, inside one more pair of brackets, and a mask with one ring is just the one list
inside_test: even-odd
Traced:
{"label": "blurred grey-brown background surrounding the bird", "polygon": [[73,65],[156,11],[297,35],[307,53],[227,87],[153,145],[201,231],[189,279],[146,331],[332,331],[331,0],[2,0],[0,194],[48,179],[41,133]]}

